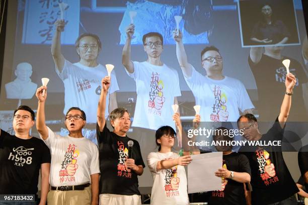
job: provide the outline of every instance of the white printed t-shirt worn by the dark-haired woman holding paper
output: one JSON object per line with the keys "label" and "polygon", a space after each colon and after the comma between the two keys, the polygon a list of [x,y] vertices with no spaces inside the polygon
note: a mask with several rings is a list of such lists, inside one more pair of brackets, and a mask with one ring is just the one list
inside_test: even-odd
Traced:
{"label": "white printed t-shirt worn by the dark-haired woman holding paper", "polygon": [[177,165],[170,169],[157,170],[159,161],[179,158],[174,152],[151,152],[147,156],[147,166],[153,177],[151,204],[189,204],[187,178],[184,166]]}

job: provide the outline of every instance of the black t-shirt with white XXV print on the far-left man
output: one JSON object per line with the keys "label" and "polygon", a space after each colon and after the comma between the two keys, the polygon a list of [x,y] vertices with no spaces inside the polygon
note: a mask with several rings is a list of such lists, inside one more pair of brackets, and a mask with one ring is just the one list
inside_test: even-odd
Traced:
{"label": "black t-shirt with white XXV print on the far-left man", "polygon": [[36,194],[41,164],[50,160],[41,139],[24,140],[1,130],[0,194]]}

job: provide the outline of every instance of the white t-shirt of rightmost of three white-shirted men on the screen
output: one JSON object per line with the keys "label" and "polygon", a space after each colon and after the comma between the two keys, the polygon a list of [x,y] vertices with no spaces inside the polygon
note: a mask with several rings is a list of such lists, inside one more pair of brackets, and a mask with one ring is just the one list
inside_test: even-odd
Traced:
{"label": "white t-shirt of rightmost of three white-shirted men on the screen", "polygon": [[193,68],[192,76],[184,75],[192,90],[196,105],[200,105],[202,122],[237,122],[240,112],[253,109],[244,84],[235,78],[224,76],[213,80],[203,76]]}

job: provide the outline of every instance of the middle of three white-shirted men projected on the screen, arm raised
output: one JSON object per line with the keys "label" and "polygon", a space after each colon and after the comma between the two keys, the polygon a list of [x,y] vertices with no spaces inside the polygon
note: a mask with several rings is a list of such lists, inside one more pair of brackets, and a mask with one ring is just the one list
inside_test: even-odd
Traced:
{"label": "middle of three white-shirted men projected on the screen, arm raised", "polygon": [[181,95],[179,75],[161,61],[163,36],[156,32],[142,37],[147,60],[131,61],[130,43],[134,28],[130,24],[126,29],[127,38],[122,52],[122,64],[136,82],[137,100],[132,127],[157,130],[168,125],[175,129],[171,105],[177,104],[177,96]]}

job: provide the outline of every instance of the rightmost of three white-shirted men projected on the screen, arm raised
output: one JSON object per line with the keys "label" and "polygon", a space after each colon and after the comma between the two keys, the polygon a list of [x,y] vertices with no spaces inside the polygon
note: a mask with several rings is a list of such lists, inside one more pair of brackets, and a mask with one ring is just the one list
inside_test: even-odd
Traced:
{"label": "rightmost of three white-shirted men projected on the screen, arm raised", "polygon": [[254,106],[243,83],[222,74],[222,57],[219,50],[206,47],[201,52],[203,76],[188,62],[182,33],[174,32],[176,52],[186,83],[193,92],[196,105],[200,105],[202,122],[236,122],[242,113],[252,113]]}

